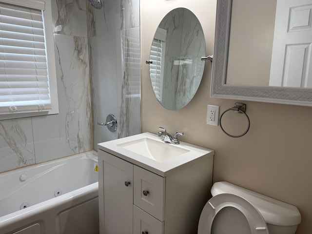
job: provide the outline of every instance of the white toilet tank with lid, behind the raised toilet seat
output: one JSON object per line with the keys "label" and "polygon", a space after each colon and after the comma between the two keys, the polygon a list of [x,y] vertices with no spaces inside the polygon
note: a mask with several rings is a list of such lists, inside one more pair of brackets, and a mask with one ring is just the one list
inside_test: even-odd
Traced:
{"label": "white toilet tank with lid, behind the raised toilet seat", "polygon": [[229,182],[216,182],[211,189],[211,194],[213,196],[234,194],[248,200],[264,218],[270,234],[294,234],[301,222],[297,207]]}

